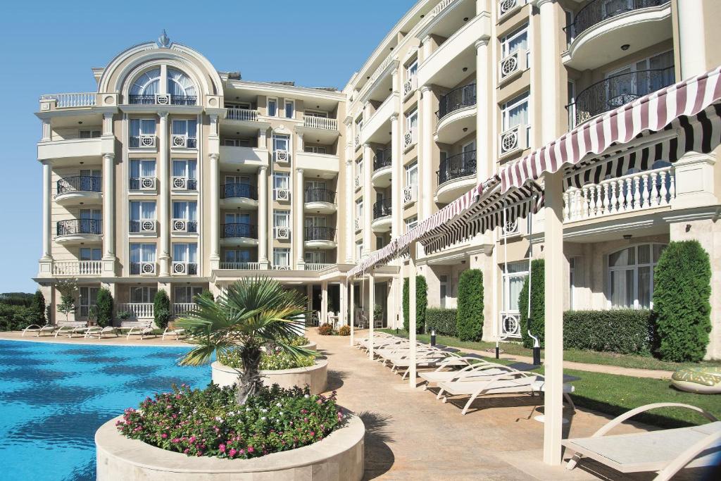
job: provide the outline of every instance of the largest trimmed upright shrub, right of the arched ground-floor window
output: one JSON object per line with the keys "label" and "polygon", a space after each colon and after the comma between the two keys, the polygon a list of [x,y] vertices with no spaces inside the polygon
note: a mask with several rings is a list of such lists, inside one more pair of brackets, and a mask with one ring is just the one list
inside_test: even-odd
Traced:
{"label": "largest trimmed upright shrub, right of the arched ground-floor window", "polygon": [[671,242],[654,270],[653,312],[664,361],[701,361],[711,332],[711,264],[696,240]]}

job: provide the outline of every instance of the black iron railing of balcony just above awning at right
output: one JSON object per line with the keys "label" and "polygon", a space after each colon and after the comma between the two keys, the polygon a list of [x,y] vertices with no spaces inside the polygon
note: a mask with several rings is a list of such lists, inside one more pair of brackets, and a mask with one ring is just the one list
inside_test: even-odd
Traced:
{"label": "black iron railing of balcony just above awning at right", "polygon": [[668,87],[676,81],[673,66],[666,69],[638,70],[610,76],[580,92],[575,102],[567,105],[572,125],[608,112],[645,94]]}

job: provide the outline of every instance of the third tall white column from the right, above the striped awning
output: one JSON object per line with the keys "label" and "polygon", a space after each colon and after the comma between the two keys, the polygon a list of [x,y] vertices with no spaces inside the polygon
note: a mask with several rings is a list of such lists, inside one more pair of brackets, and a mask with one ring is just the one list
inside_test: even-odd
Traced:
{"label": "third tall white column from the right, above the striped awning", "polygon": [[[476,180],[483,182],[490,177],[492,169],[488,159],[490,146],[488,128],[488,41],[484,35],[476,42]],[[491,69],[492,70],[492,69]]]}

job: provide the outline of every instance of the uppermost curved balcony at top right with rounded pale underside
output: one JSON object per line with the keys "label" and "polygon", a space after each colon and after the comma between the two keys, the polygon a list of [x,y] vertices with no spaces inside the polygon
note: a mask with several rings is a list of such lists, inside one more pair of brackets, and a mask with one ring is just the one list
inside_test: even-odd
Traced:
{"label": "uppermost curved balcony at top right with rounded pale underside", "polygon": [[[592,0],[566,28],[568,50],[562,60],[578,70],[640,52],[673,37],[670,0]],[[630,45],[620,50],[620,45]]]}

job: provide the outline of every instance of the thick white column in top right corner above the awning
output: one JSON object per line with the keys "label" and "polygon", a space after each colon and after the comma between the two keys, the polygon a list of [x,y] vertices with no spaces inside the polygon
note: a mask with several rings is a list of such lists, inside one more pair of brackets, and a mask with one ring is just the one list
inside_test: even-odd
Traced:
{"label": "thick white column in top right corner above the awning", "polygon": [[[707,22],[704,16],[702,0],[679,2],[678,9],[678,43],[681,52],[681,79],[703,74],[706,65],[706,32]],[[715,22],[715,20],[708,20]]]}

